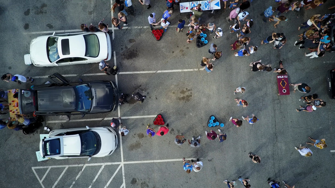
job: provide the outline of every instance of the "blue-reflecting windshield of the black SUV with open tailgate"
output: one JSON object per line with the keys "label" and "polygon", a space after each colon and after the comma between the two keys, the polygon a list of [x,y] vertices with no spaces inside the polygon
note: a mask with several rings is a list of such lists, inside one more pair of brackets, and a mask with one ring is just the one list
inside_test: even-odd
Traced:
{"label": "blue-reflecting windshield of the black SUV with open tailgate", "polygon": [[92,91],[87,84],[78,85],[75,87],[78,96],[78,111],[89,111],[92,103]]}

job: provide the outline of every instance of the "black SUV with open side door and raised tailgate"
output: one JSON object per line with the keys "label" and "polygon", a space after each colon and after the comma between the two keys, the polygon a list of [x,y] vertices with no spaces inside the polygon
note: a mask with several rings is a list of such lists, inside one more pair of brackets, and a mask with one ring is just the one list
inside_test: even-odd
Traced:
{"label": "black SUV with open side door and raised tailgate", "polygon": [[118,108],[118,88],[112,81],[70,82],[59,73],[49,78],[55,83],[19,89],[21,114],[95,114],[112,112]]}

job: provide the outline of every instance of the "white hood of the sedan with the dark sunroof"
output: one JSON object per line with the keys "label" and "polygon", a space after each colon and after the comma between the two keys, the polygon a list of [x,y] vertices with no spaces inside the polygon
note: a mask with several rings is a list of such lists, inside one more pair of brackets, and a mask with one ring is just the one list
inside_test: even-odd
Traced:
{"label": "white hood of the sedan with the dark sunroof", "polygon": [[49,36],[40,36],[30,42],[30,59],[41,64],[51,64],[47,55],[47,39]]}

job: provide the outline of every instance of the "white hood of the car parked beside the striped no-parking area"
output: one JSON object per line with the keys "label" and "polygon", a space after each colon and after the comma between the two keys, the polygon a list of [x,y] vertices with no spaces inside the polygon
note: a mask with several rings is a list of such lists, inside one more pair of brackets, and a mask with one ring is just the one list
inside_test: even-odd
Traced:
{"label": "white hood of the car parked beside the striped no-parking area", "polygon": [[94,130],[97,132],[101,139],[101,148],[99,153],[94,155],[94,157],[104,157],[108,155],[111,151],[116,149],[116,139],[117,136],[114,133],[105,130]]}

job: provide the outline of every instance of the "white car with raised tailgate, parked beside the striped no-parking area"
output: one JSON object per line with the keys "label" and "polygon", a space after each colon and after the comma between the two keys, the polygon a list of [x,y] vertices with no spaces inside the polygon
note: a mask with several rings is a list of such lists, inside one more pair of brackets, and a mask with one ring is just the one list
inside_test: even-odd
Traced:
{"label": "white car with raised tailgate, parked beside the striped no-parking area", "polygon": [[56,129],[41,140],[43,158],[66,159],[105,157],[112,155],[118,145],[117,134],[112,127]]}

